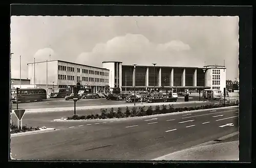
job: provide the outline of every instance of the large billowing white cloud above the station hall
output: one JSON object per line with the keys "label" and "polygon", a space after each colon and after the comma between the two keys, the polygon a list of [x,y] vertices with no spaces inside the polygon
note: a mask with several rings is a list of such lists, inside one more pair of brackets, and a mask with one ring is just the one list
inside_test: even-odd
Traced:
{"label": "large billowing white cloud above the station hall", "polygon": [[[153,43],[141,34],[126,34],[125,36],[114,37],[106,43],[96,44],[91,52],[82,52],[78,55],[76,63],[102,67],[100,60],[122,61],[123,64],[145,64],[149,58],[153,62],[159,57],[167,61],[170,56],[186,54],[190,50],[188,44],[179,40],[169,41],[163,44]],[[173,64],[175,61],[173,60]]]}

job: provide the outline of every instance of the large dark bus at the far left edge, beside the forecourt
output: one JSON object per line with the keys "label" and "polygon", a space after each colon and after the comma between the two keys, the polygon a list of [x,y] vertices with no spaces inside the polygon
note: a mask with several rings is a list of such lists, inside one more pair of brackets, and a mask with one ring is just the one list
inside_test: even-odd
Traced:
{"label": "large dark bus at the far left edge, beside the forecourt", "polygon": [[41,88],[28,88],[28,89],[18,89],[18,94],[16,89],[11,90],[11,101],[13,103],[25,103],[33,101],[42,101],[47,99],[47,93],[45,89]]}

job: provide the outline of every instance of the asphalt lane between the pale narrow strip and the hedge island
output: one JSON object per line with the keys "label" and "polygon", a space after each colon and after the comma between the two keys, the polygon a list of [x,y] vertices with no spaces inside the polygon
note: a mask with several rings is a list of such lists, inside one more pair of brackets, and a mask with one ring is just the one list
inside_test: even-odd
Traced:
{"label": "asphalt lane between the pale narrow strip and the hedge island", "polygon": [[[115,101],[114,101],[115,102]],[[171,103],[170,103],[171,104]],[[174,104],[174,108],[176,107],[195,107],[195,106],[201,106],[204,104],[213,104],[211,103],[182,103],[182,104]],[[147,103],[144,103],[143,106],[145,105],[145,109],[148,108]],[[168,105],[166,105],[168,108]],[[122,112],[124,113],[126,107],[121,107]],[[153,105],[152,108],[154,109],[155,106]],[[132,107],[129,107],[131,110]],[[137,107],[138,109],[138,107]],[[108,108],[108,111],[110,108]],[[114,108],[114,110],[117,111],[117,108]],[[79,116],[82,115],[90,115],[90,114],[101,114],[100,109],[86,109],[86,110],[76,110],[76,114]],[[28,125],[32,127],[55,127],[55,128],[62,128],[66,127],[66,125],[70,125],[70,123],[58,123],[58,122],[50,122],[53,121],[54,119],[60,119],[60,118],[67,118],[71,117],[74,115],[74,110],[70,111],[55,111],[55,112],[47,112],[47,113],[25,113],[23,117],[23,125]],[[17,124],[17,118],[15,117],[15,114],[11,114],[11,120],[14,124]]]}

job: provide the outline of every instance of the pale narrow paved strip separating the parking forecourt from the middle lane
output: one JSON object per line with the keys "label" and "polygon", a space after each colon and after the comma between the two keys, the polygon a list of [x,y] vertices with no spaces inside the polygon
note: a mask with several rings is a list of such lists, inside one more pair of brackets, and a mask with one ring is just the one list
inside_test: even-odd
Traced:
{"label": "pale narrow paved strip separating the parking forecourt from the middle lane", "polygon": [[[144,103],[144,104],[136,104],[135,106],[141,105],[168,105],[168,104],[190,104],[190,103],[203,103],[203,101],[188,101],[188,102],[161,102],[161,103]],[[100,109],[100,108],[111,108],[111,107],[130,107],[134,106],[133,103],[129,104],[112,104],[112,105],[95,105],[95,106],[78,106],[76,110],[86,110],[86,109]],[[60,108],[34,108],[34,109],[26,109],[26,113],[48,113],[48,112],[59,112],[59,111],[69,111],[74,110],[74,107],[60,107]],[[14,110],[12,110],[14,113]]]}

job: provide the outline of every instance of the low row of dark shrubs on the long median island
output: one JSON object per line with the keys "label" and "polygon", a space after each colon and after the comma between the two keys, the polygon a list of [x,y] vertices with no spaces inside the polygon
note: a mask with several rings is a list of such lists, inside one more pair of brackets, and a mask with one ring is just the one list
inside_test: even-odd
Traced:
{"label": "low row of dark shrubs on the long median island", "polygon": [[[225,106],[233,106],[238,105],[238,103],[228,103]],[[167,113],[175,113],[175,112],[181,112],[181,111],[191,111],[191,110],[198,110],[198,109],[209,109],[209,108],[218,108],[218,107],[224,107],[224,104],[207,104],[207,105],[201,105],[197,107],[178,107],[174,108],[173,105],[168,104],[168,107],[166,105],[156,105],[156,108],[153,110],[152,106],[149,106],[147,109],[145,109],[145,106],[140,106],[137,108],[136,106],[132,107],[132,109],[129,109],[129,107],[126,106],[126,109],[124,113],[122,113],[121,108],[119,107],[117,111],[114,110],[114,108],[110,108],[108,111],[107,108],[101,108],[100,112],[101,114],[91,114],[87,116],[78,116],[74,115],[71,117],[68,117],[67,120],[86,120],[86,119],[113,119],[113,118],[128,118],[128,117],[140,117],[140,116],[151,116],[151,115],[157,115],[157,114],[167,114]]]}

